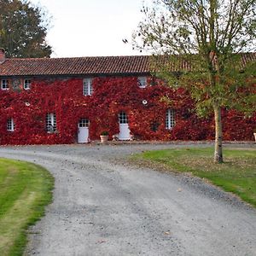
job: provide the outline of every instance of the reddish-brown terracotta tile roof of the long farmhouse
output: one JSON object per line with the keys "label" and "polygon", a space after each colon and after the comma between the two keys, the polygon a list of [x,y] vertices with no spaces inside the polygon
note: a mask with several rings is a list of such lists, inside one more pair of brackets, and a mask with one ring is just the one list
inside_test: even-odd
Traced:
{"label": "reddish-brown terracotta tile roof of the long farmhouse", "polygon": [[[149,55],[107,56],[80,58],[6,59],[0,64],[0,76],[44,76],[44,75],[98,75],[150,73]],[[162,59],[165,60],[166,58]],[[160,61],[160,62],[161,62]],[[242,65],[256,61],[256,53],[244,54]],[[165,62],[165,61],[164,61]],[[179,67],[172,65],[171,71],[191,70],[186,61]],[[178,70],[179,69],[179,70]]]}

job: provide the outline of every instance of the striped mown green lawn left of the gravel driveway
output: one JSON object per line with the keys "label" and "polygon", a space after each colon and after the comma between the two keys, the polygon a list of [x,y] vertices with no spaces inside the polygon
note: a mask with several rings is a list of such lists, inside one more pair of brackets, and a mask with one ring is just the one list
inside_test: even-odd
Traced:
{"label": "striped mown green lawn left of the gravel driveway", "polygon": [[26,230],[52,200],[53,177],[43,167],[0,159],[0,255],[22,255]]}

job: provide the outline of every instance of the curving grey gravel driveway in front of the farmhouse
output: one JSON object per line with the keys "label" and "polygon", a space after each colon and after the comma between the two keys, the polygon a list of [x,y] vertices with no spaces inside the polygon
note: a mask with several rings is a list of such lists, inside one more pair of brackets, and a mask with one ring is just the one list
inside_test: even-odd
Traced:
{"label": "curving grey gravel driveway in front of the farmhouse", "polygon": [[[122,165],[145,149],[186,145],[1,147],[55,177],[29,255],[256,255],[256,211],[195,177]],[[206,145],[198,145],[200,147]]]}

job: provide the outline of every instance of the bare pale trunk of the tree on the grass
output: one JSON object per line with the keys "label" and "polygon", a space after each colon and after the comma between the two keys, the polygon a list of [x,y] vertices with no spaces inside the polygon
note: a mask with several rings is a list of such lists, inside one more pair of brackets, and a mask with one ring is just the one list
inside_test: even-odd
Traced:
{"label": "bare pale trunk of the tree on the grass", "polygon": [[218,104],[213,105],[214,119],[215,119],[215,151],[214,163],[223,163],[222,154],[222,123],[221,123],[221,109]]}

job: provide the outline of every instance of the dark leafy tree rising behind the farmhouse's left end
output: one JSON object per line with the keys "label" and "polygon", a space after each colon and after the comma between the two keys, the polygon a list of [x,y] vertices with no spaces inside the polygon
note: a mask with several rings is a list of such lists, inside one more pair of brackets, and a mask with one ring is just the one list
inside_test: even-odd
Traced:
{"label": "dark leafy tree rising behind the farmhouse's left end", "polygon": [[48,27],[44,10],[29,1],[0,0],[0,47],[8,57],[49,57]]}

